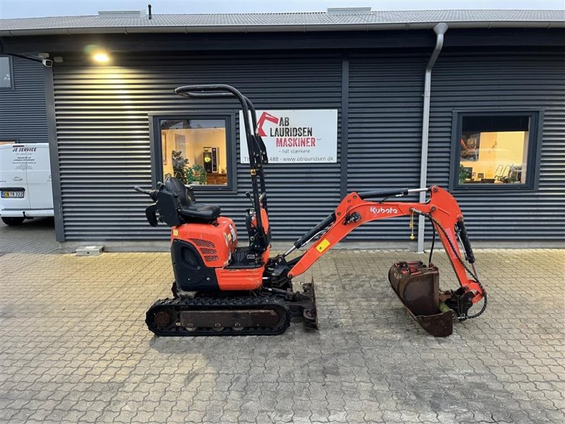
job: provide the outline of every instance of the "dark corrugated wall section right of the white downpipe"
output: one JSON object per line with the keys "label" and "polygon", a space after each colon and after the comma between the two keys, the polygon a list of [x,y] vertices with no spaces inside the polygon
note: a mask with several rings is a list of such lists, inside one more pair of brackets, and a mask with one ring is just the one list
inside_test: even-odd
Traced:
{"label": "dark corrugated wall section right of the white downpipe", "polygon": [[537,191],[455,192],[472,240],[563,241],[565,55],[442,52],[432,76],[429,184],[447,187],[453,110],[544,110]]}

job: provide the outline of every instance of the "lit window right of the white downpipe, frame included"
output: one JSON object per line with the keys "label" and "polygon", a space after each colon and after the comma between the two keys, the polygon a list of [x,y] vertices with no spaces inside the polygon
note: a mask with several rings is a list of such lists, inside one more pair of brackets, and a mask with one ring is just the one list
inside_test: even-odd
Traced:
{"label": "lit window right of the white downpipe, frame included", "polygon": [[534,188],[539,112],[456,113],[451,185]]}

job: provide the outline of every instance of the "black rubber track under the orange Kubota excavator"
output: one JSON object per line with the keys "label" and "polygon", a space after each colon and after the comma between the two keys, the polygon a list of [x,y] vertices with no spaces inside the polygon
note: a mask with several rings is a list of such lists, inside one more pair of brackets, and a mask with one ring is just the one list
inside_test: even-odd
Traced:
{"label": "black rubber track under the orange Kubota excavator", "polygon": [[274,336],[290,326],[291,311],[274,296],[157,300],[145,317],[157,336]]}

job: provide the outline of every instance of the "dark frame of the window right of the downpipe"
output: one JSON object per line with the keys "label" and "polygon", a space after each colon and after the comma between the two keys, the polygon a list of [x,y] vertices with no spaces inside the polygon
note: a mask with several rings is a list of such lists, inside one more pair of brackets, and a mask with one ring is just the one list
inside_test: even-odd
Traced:
{"label": "dark frame of the window right of the downpipe", "polygon": [[[449,172],[449,190],[451,192],[533,192],[540,184],[540,153],[542,148],[543,113],[541,108],[497,107],[489,109],[458,109],[453,110],[451,125],[451,155]],[[460,184],[459,164],[463,129],[463,118],[470,116],[528,116],[530,131],[528,138],[528,167],[525,184]]]}

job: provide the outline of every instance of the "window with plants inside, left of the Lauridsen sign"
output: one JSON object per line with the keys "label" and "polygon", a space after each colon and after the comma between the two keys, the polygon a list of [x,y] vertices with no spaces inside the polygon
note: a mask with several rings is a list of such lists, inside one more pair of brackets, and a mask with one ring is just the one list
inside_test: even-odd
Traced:
{"label": "window with plants inside, left of the Lauridsen sign", "polygon": [[[235,179],[229,117],[154,117],[156,180],[177,177],[204,189],[231,189]],[[156,130],[156,131],[155,131]]]}

